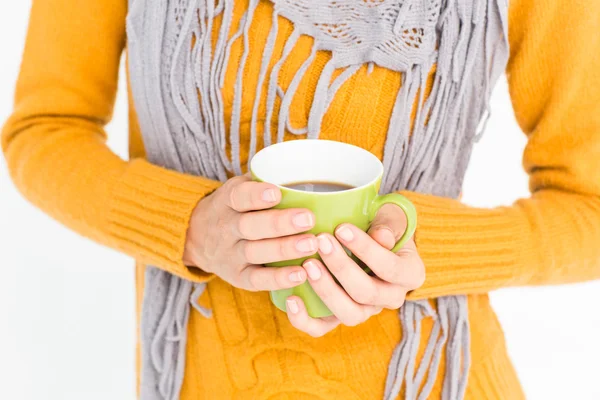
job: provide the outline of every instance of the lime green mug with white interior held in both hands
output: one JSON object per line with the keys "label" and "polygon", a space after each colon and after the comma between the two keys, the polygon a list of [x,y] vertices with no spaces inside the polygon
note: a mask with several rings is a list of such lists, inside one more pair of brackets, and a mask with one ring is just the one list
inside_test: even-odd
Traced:
{"label": "lime green mug with white interior held in both hands", "polygon": [[[310,233],[333,234],[336,227],[344,222],[367,231],[377,211],[388,203],[399,206],[407,220],[406,231],[392,251],[398,251],[415,232],[415,207],[397,193],[378,195],[383,164],[360,147],[329,140],[287,141],[259,151],[250,162],[250,171],[255,181],[273,183],[281,189],[282,199],[275,208],[308,208],[315,214],[316,223]],[[333,183],[349,188],[309,192],[284,186],[298,182]],[[319,258],[319,255],[267,265],[302,265],[308,258]],[[311,317],[332,315],[308,281],[291,289],[272,291],[271,300],[277,308],[285,311],[286,299],[293,295],[304,301]]]}

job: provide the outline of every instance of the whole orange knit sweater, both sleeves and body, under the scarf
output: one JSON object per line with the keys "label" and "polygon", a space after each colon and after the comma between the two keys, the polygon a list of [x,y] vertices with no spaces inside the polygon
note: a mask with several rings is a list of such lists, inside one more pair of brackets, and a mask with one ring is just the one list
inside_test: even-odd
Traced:
{"label": "whole orange knit sweater, both sleeves and body, under the scarf", "polygon": [[[30,201],[81,234],[135,257],[138,276],[146,263],[187,279],[208,279],[181,258],[193,208],[219,183],[146,162],[133,108],[131,160],[121,160],[105,145],[126,3],[33,2],[15,111],[2,148],[15,184]],[[236,2],[236,19],[246,6]],[[509,11],[507,72],[517,119],[529,138],[524,166],[531,197],[511,207],[478,209],[405,193],[419,212],[416,240],[427,267],[427,281],[412,297],[469,295],[471,399],[522,397],[485,293],[600,278],[600,2],[512,0]],[[271,12],[269,2],[260,3],[253,43],[266,40]],[[279,23],[281,49],[291,25],[283,18]],[[310,47],[311,39],[303,37],[282,69],[283,87]],[[233,60],[241,50],[238,41]],[[319,52],[311,68],[318,71],[328,57]],[[260,61],[261,52],[251,51],[242,121],[250,121],[256,86],[251,76],[258,75]],[[230,62],[226,110],[236,71]],[[317,76],[309,72],[294,98],[294,126],[306,123]],[[399,74],[383,68],[353,76],[329,109],[321,138],[381,157],[396,93],[390,88],[399,84]],[[242,144],[248,138],[242,131]],[[140,296],[141,285],[138,280]],[[395,312],[313,339],[292,328],[266,293],[213,279],[202,302],[214,317],[190,317],[183,399],[381,398],[389,356],[401,336]],[[423,335],[430,328],[426,321]],[[443,370],[442,365],[440,377]],[[438,379],[432,397],[440,387]]]}

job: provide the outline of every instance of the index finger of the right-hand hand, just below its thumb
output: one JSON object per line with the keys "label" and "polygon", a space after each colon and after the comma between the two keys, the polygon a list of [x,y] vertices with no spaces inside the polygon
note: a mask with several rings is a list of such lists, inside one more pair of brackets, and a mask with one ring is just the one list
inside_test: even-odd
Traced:
{"label": "index finger of the right-hand hand, just below its thumb", "polygon": [[[398,254],[394,254],[352,224],[340,225],[335,231],[335,236],[384,281],[401,285],[409,290],[423,284],[425,268],[414,247],[414,242],[410,241]],[[340,251],[333,253],[330,257],[341,257]],[[329,261],[325,260],[325,263],[331,269]]]}

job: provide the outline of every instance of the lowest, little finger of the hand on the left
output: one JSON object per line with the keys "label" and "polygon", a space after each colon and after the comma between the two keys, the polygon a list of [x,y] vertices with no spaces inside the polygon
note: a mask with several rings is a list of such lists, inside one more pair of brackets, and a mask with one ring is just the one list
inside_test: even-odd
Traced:
{"label": "lowest, little finger of the hand on the left", "polygon": [[306,281],[302,267],[249,265],[239,275],[239,287],[250,291],[288,289]]}

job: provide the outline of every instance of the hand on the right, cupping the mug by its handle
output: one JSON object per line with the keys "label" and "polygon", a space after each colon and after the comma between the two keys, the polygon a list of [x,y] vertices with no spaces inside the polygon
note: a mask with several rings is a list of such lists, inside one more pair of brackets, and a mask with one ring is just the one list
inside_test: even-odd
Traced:
{"label": "hand on the right, cupping the mug by its handle", "polygon": [[[286,306],[292,325],[310,336],[320,337],[339,324],[355,326],[384,308],[400,308],[406,294],[425,281],[425,267],[412,238],[398,253],[390,251],[405,228],[402,209],[387,204],[377,213],[368,233],[352,224],[342,224],[337,227],[335,237],[320,234],[319,254],[327,268],[316,259],[306,260],[303,267],[311,286],[334,315],[311,318],[302,300],[290,296]],[[376,276],[364,272],[342,245]]]}

